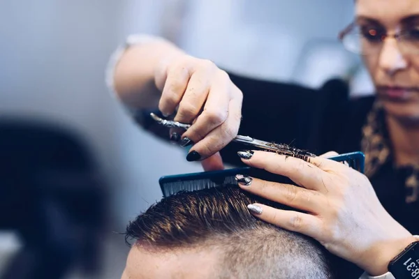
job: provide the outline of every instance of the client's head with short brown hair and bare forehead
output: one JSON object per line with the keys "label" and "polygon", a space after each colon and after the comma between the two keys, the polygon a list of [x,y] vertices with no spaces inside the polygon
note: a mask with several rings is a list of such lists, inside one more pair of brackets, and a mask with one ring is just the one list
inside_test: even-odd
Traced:
{"label": "client's head with short brown hair and bare forehead", "polygon": [[318,243],[251,216],[253,202],[280,207],[237,186],[162,199],[128,225],[122,279],[331,278]]}

